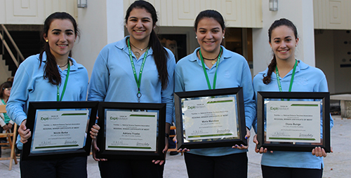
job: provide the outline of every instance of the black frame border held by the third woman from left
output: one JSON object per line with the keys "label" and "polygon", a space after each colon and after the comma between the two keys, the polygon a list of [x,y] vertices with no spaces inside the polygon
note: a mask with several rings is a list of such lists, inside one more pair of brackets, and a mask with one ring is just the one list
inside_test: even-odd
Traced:
{"label": "black frame border held by the third woman from left", "polygon": [[[177,144],[178,149],[200,149],[200,148],[213,148],[223,146],[234,146],[234,145],[247,145],[246,125],[245,125],[245,112],[244,112],[244,97],[242,88],[223,88],[216,90],[197,90],[180,92],[174,94],[174,103],[176,109],[176,131],[177,131]],[[194,98],[205,98],[205,97],[234,97],[237,115],[237,132],[236,138],[230,139],[198,139],[188,142],[184,137],[183,128],[183,101],[192,100]],[[183,101],[182,101],[183,100]],[[201,99],[200,99],[201,100]]]}

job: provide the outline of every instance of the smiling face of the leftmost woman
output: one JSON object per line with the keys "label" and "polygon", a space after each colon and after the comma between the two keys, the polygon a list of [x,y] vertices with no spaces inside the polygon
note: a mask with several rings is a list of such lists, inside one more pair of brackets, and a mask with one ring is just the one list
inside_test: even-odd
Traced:
{"label": "smiling face of the leftmost woman", "polygon": [[53,20],[44,34],[44,40],[48,40],[50,51],[56,59],[67,59],[76,39],[72,22],[66,19]]}

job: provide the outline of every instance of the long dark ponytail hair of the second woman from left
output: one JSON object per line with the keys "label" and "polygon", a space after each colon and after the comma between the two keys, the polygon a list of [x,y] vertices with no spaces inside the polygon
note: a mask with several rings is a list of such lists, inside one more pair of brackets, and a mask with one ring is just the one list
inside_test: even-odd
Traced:
{"label": "long dark ponytail hair of the second woman from left", "polygon": [[[157,13],[156,9],[152,4],[150,4],[147,1],[134,1],[131,6],[126,11],[126,23],[128,22],[129,15],[131,11],[134,8],[144,8],[148,13],[151,14],[152,17],[152,26],[154,27],[157,22]],[[154,29],[152,29],[152,32],[150,34],[150,41],[149,41],[149,46],[151,46],[152,50],[154,50],[154,53],[152,54],[154,56],[154,62],[157,67],[157,71],[159,72],[159,80],[161,81],[161,87],[162,89],[166,89],[168,85],[168,72],[167,72],[167,57],[168,53],[166,49],[162,46],[161,41],[159,41],[159,37],[157,37],[157,34],[154,32]]]}

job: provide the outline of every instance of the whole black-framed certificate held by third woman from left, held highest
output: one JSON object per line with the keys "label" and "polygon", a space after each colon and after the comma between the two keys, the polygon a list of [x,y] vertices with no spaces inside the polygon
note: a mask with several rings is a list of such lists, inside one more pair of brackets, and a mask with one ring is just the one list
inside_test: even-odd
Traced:
{"label": "whole black-framed certificate held by third woman from left, held highest", "polygon": [[178,149],[247,145],[242,88],[174,94]]}

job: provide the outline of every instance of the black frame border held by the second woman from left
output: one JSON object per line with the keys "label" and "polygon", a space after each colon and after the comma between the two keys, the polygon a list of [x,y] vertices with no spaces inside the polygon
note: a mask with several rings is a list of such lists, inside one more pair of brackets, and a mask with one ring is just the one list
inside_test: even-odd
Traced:
{"label": "black frame border held by the second woman from left", "polygon": [[[106,118],[105,111],[114,110],[134,110],[134,111],[157,111],[158,114],[158,134],[157,134],[157,150],[156,151],[119,151],[106,150]],[[165,127],[166,127],[166,104],[164,103],[132,103],[132,102],[100,102],[98,109],[98,125],[103,134],[98,135],[98,146],[100,151],[97,153],[98,158],[107,159],[143,159],[143,160],[164,160],[165,146]],[[154,130],[157,132],[157,130]]]}

